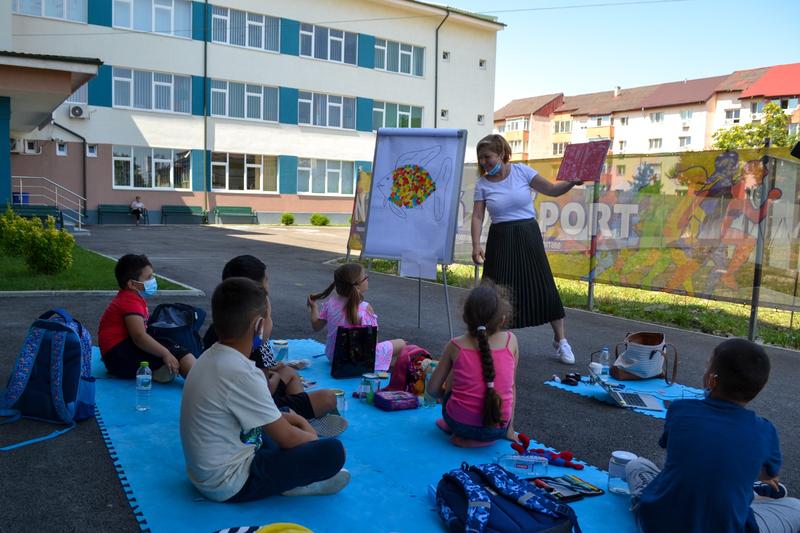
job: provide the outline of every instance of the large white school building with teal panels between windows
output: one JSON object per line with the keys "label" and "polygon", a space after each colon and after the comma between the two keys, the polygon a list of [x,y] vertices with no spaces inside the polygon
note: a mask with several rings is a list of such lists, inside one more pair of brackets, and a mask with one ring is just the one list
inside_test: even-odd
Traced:
{"label": "large white school building with teal panels between windows", "polygon": [[0,50],[82,65],[52,116],[24,124],[13,118],[24,96],[2,76],[0,202],[50,188],[79,197],[89,223],[136,195],[154,223],[176,205],[344,222],[377,128],[466,129],[467,161],[492,130],[504,25],[439,5],[12,0],[0,20]]}

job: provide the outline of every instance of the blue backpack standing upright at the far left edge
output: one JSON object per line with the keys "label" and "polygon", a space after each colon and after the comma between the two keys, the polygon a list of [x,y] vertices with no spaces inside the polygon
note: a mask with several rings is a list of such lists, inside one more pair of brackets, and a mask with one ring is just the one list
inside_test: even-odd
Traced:
{"label": "blue backpack standing upright at the far left edge", "polygon": [[63,309],[34,321],[17,356],[6,390],[0,394],[0,416],[7,424],[20,417],[68,424],[44,437],[0,448],[9,451],[57,437],[75,422],[94,416],[92,336]]}

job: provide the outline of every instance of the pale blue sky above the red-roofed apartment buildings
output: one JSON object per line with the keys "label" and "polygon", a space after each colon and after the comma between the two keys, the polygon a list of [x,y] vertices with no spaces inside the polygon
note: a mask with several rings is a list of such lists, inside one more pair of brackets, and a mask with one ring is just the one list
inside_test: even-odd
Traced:
{"label": "pale blue sky above the red-roofed apartment buildings", "polygon": [[[434,0],[437,1],[437,0]],[[797,0],[438,0],[499,17],[495,109],[514,98],[635,87],[800,62]],[[541,11],[502,10],[553,8]]]}

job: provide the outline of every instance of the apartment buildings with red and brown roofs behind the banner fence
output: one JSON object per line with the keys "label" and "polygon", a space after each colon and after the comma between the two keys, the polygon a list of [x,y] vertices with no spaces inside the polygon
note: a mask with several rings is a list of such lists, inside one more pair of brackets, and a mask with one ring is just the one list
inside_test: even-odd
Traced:
{"label": "apartment buildings with red and brown roofs behind the banner fence", "polygon": [[[495,131],[509,143],[522,140],[516,146],[526,150],[514,149],[515,160],[558,158],[568,144],[592,139],[611,139],[614,155],[708,150],[715,131],[761,120],[767,102],[784,109],[790,130],[797,131],[798,95],[800,63],[794,63],[575,96],[514,100],[495,112]],[[545,107],[555,102],[560,102],[555,109]],[[538,108],[534,111],[529,103]],[[521,119],[526,126],[522,131]]]}

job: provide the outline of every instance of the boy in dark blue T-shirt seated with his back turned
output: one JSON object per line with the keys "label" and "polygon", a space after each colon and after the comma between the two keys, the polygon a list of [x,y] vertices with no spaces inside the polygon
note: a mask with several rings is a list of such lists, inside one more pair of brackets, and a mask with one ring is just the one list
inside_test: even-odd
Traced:
{"label": "boy in dark blue T-shirt seated with his back turned", "polygon": [[714,349],[703,375],[706,398],[676,401],[667,411],[658,441],[667,449],[664,469],[643,458],[626,467],[642,531],[800,531],[800,500],[785,497],[778,483],[778,432],[745,408],[769,370],[766,352],[750,341]]}

